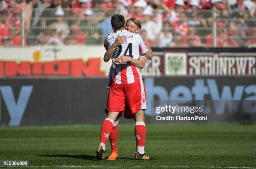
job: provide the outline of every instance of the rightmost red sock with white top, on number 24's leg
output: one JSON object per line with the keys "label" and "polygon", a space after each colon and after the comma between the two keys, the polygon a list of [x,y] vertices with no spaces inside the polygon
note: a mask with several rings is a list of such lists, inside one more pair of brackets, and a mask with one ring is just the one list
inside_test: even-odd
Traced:
{"label": "rightmost red sock with white top, on number 24's leg", "polygon": [[146,140],[146,126],[143,121],[136,121],[135,123],[135,137],[137,144],[137,151],[140,154],[144,154],[144,146]]}

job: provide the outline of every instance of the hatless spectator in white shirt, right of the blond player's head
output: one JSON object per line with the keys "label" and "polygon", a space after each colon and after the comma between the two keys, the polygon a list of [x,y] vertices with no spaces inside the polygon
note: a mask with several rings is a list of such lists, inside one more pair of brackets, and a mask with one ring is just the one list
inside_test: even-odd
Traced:
{"label": "hatless spectator in white shirt, right of the blond player's head", "polygon": [[156,36],[154,44],[159,45],[161,47],[172,46],[172,33],[171,33],[171,25],[169,22],[164,22],[163,30]]}

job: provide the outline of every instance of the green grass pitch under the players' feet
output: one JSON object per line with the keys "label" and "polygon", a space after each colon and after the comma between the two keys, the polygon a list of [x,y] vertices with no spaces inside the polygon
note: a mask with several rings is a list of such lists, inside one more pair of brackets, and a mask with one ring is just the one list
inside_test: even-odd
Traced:
{"label": "green grass pitch under the players' feet", "polygon": [[[100,125],[0,127],[0,160],[29,160],[31,168],[256,169],[256,125],[147,124],[145,151],[134,160],[134,124],[120,124],[115,161],[96,161]],[[107,142],[106,156],[110,154]]]}

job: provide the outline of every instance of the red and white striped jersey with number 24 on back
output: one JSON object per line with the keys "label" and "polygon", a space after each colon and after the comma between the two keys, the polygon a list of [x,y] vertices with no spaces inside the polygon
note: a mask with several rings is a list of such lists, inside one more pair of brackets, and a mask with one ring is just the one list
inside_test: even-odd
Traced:
{"label": "red and white striped jersey with number 24 on back", "polygon": [[118,84],[129,84],[134,83],[138,79],[142,79],[139,68],[131,65],[131,63],[116,65],[115,58],[121,55],[126,55],[138,59],[140,52],[144,54],[148,51],[141,35],[128,32],[127,30],[118,30],[116,33],[110,33],[105,38],[104,45],[107,46],[107,48],[110,48],[118,35],[125,35],[126,42],[118,46],[111,57],[112,66],[108,77],[108,86],[111,80]]}

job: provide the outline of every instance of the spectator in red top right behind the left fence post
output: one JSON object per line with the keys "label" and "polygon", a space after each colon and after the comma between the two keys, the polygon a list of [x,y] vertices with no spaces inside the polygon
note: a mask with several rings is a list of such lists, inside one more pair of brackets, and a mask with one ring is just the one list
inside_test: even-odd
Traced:
{"label": "spectator in red top right behind the left fence post", "polygon": [[[21,9],[19,7],[13,8],[12,13],[12,28],[11,30],[11,45],[13,46],[21,46],[22,45],[22,37],[21,37]],[[30,33],[28,22],[25,22],[25,34]],[[25,45],[26,45],[26,38]]]}

